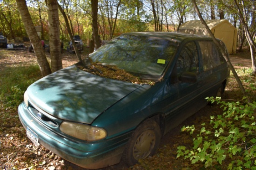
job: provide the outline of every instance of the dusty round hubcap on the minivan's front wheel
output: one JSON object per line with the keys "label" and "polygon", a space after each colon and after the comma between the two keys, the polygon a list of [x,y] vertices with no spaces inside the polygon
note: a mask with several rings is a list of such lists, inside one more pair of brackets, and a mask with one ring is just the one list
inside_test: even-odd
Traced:
{"label": "dusty round hubcap on the minivan's front wheel", "polygon": [[133,156],[136,160],[148,157],[155,146],[155,133],[152,130],[142,132],[135,142]]}

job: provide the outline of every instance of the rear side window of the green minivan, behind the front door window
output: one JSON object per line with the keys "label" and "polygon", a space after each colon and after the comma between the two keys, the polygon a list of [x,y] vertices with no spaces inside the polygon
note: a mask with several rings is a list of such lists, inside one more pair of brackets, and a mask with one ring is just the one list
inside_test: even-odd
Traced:
{"label": "rear side window of the green minivan, behind the front door window", "polygon": [[221,64],[219,50],[213,41],[199,41],[202,52],[203,70],[207,71]]}

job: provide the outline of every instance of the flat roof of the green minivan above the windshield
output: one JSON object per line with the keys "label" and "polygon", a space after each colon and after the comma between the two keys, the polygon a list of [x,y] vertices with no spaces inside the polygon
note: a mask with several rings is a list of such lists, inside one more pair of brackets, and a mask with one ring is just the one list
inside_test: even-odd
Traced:
{"label": "flat roof of the green minivan above the windshield", "polygon": [[211,39],[208,36],[187,34],[187,33],[182,33],[177,31],[175,32],[130,32],[130,33],[124,33],[122,35],[158,37],[158,38],[166,38],[166,39],[174,40],[178,42],[182,42],[182,40],[188,39],[188,38]]}

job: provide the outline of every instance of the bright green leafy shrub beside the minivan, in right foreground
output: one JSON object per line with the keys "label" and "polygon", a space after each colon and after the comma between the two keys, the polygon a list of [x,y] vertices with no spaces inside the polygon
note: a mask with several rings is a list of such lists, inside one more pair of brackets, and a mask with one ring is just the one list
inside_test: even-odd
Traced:
{"label": "bright green leafy shrub beside the minivan, in right foreground", "polygon": [[[192,148],[178,146],[177,157],[199,161],[205,167],[222,164],[228,170],[256,170],[256,102],[240,103],[207,98],[223,108],[223,114],[211,116],[201,129],[183,126],[183,132],[194,136]],[[228,163],[228,164],[227,164]]]}

